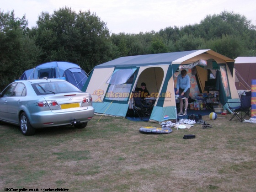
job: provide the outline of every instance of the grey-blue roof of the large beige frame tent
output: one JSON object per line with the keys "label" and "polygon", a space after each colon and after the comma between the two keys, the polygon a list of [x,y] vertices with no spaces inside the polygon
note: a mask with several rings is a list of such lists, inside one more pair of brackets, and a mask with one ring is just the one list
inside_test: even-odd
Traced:
{"label": "grey-blue roof of the large beige frame tent", "polygon": [[193,50],[193,51],[181,51],[173,53],[158,53],[148,55],[135,55],[127,56],[108,61],[103,64],[97,65],[95,68],[108,68],[108,67],[131,67],[131,66],[148,66],[159,64],[181,64],[187,59],[191,59],[201,53],[209,53],[213,56],[219,57],[226,62],[234,62],[235,60],[225,57],[219,53],[216,53],[210,49]]}

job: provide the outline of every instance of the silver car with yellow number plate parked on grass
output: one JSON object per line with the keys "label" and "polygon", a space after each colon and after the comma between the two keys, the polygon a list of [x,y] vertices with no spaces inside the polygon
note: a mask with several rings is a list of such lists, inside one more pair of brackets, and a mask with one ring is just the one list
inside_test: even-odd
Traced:
{"label": "silver car with yellow number plate parked on grass", "polygon": [[23,135],[63,125],[85,128],[93,116],[91,94],[65,80],[19,80],[0,94],[0,121],[20,126]]}

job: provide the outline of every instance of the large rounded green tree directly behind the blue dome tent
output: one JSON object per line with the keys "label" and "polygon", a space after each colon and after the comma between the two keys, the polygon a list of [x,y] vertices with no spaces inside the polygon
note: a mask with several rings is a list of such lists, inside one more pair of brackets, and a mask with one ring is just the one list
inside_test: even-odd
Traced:
{"label": "large rounded green tree directly behind the blue dome tent", "polygon": [[106,23],[90,11],[76,13],[69,7],[42,12],[31,37],[43,50],[41,61],[64,60],[87,72],[115,55]]}

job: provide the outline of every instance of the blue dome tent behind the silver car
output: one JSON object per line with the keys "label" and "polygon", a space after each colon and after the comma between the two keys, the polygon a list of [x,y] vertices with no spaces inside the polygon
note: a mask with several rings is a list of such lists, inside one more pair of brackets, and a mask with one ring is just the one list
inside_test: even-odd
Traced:
{"label": "blue dome tent behind the silver car", "polygon": [[20,80],[61,78],[75,85],[80,90],[83,88],[88,75],[78,64],[52,61],[44,64],[39,64],[33,69],[26,70],[20,77]]}

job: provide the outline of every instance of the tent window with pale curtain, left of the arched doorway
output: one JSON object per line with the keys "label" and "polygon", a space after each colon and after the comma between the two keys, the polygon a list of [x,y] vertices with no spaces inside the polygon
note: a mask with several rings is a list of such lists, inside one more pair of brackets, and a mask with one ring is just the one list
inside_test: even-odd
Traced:
{"label": "tent window with pale curtain, left of the arched doorway", "polygon": [[106,98],[114,101],[128,101],[136,69],[117,69],[107,80],[110,84]]}

